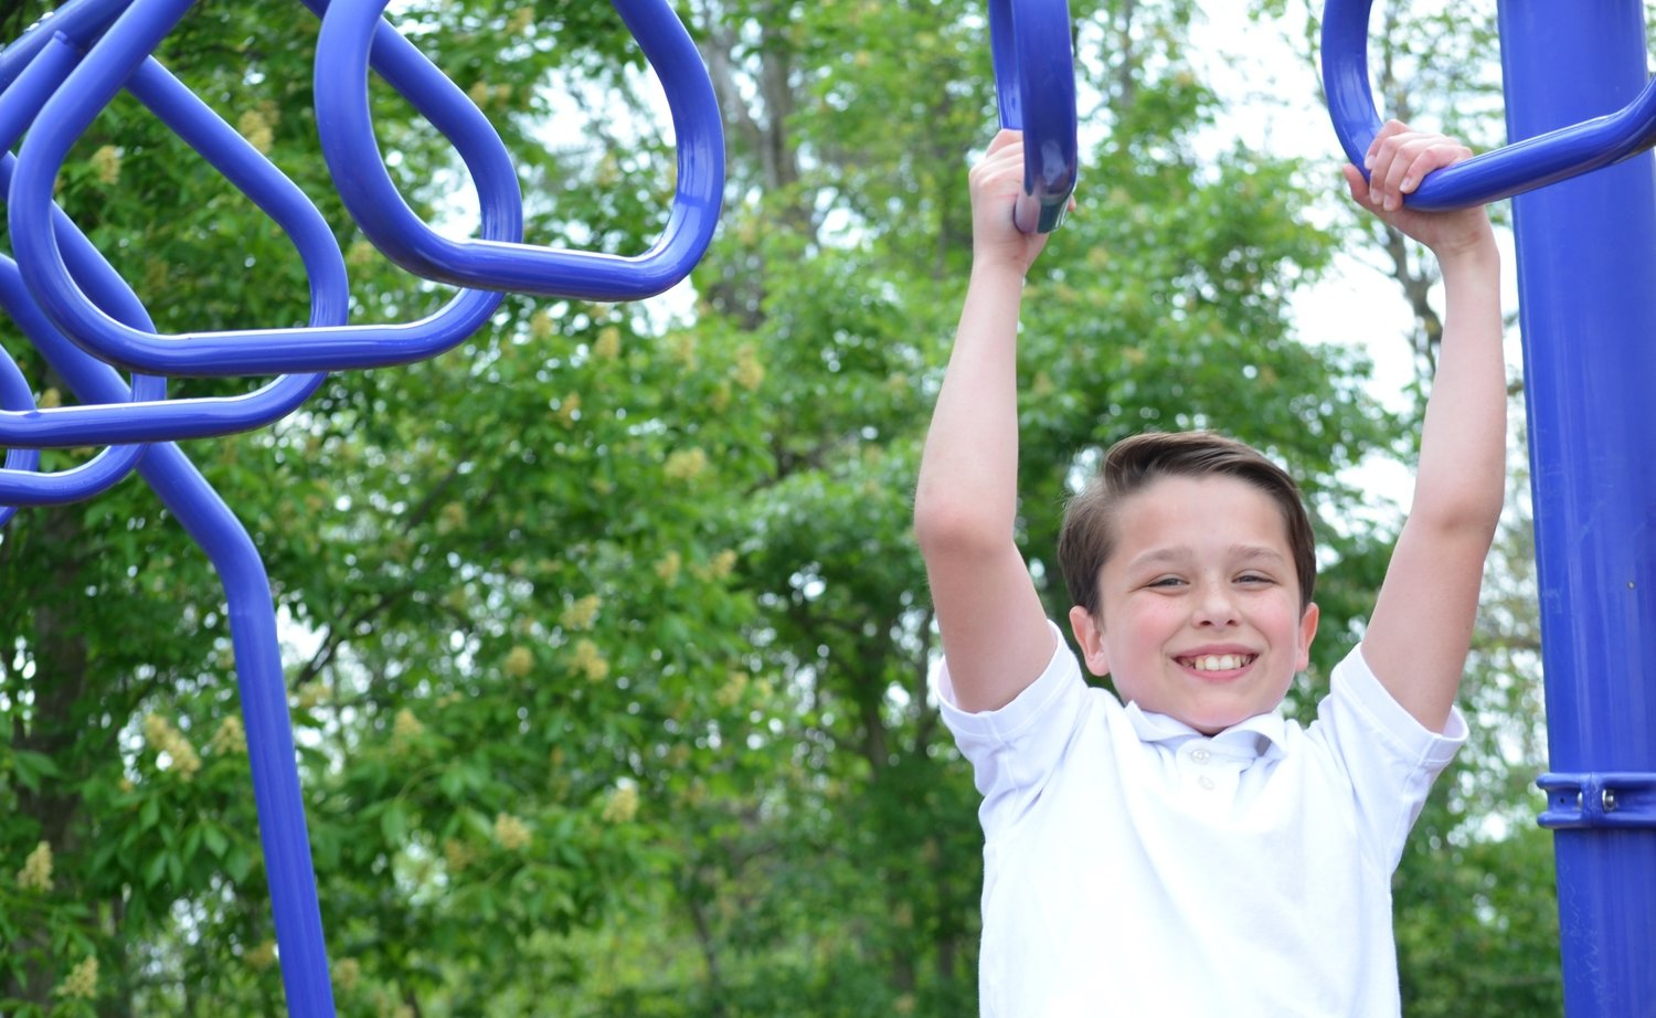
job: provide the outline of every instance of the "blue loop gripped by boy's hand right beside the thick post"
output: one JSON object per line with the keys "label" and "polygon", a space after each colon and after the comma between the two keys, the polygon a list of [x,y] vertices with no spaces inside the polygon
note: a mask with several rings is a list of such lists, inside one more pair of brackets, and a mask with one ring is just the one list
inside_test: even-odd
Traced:
{"label": "blue loop gripped by boy's hand right beside the thick post", "polygon": [[[1368,81],[1368,13],[1373,0],[1326,0],[1323,89],[1340,146],[1361,167],[1379,132]],[[1426,212],[1499,202],[1595,170],[1656,144],[1656,79],[1616,113],[1570,124],[1446,166],[1421,180],[1404,205]],[[1365,170],[1366,172],[1366,170]]]}

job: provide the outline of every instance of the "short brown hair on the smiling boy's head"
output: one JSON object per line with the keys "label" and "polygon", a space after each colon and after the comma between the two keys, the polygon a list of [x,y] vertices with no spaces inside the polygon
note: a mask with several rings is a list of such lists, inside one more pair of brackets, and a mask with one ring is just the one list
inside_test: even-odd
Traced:
{"label": "short brown hair on the smiling boy's head", "polygon": [[1300,581],[1300,611],[1305,611],[1317,584],[1317,540],[1300,487],[1252,445],[1206,430],[1133,435],[1105,452],[1098,477],[1065,505],[1058,531],[1058,568],[1071,604],[1098,614],[1098,574],[1114,551],[1116,513],[1129,495],[1163,477],[1212,475],[1244,480],[1270,495],[1282,510]]}

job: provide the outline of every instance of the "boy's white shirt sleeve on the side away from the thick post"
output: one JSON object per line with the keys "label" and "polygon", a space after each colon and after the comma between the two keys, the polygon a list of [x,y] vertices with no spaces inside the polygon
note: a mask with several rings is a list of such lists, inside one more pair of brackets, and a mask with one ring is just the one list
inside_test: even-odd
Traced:
{"label": "boy's white shirt sleeve on the side away from the thick post", "polygon": [[1086,682],[1063,634],[1048,621],[1053,654],[1047,669],[1010,703],[970,713],[954,702],[946,660],[937,679],[939,710],[960,753],[972,763],[984,796],[979,819],[994,841],[1040,798],[1086,710]]}

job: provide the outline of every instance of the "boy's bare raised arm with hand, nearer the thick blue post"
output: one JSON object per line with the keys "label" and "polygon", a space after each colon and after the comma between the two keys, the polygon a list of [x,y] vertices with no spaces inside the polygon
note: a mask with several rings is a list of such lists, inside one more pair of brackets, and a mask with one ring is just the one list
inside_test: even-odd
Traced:
{"label": "boy's bare raised arm with hand, nearer the thick blue post", "polygon": [[1370,184],[1346,167],[1351,197],[1429,247],[1442,270],[1444,333],[1414,500],[1363,637],[1370,669],[1432,732],[1444,730],[1461,685],[1507,490],[1500,255],[1484,209],[1413,212],[1401,195],[1426,172],[1469,156],[1393,121],[1370,149]]}

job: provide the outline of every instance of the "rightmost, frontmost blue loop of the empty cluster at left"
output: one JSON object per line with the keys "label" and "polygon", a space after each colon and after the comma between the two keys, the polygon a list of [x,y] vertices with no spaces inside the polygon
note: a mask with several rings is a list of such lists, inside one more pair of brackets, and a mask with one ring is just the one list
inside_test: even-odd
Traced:
{"label": "rightmost, frontmost blue loop of the empty cluster at left", "polygon": [[316,41],[316,129],[344,207],[388,258],[416,275],[459,286],[606,301],[652,296],[689,275],[712,240],[724,197],[724,127],[712,81],[667,0],[614,0],[614,5],[661,78],[679,151],[667,227],[638,257],[489,238],[450,240],[432,232],[402,200],[374,144],[368,55],[373,45],[378,58],[383,40],[396,35],[379,20],[386,0],[328,5]]}

